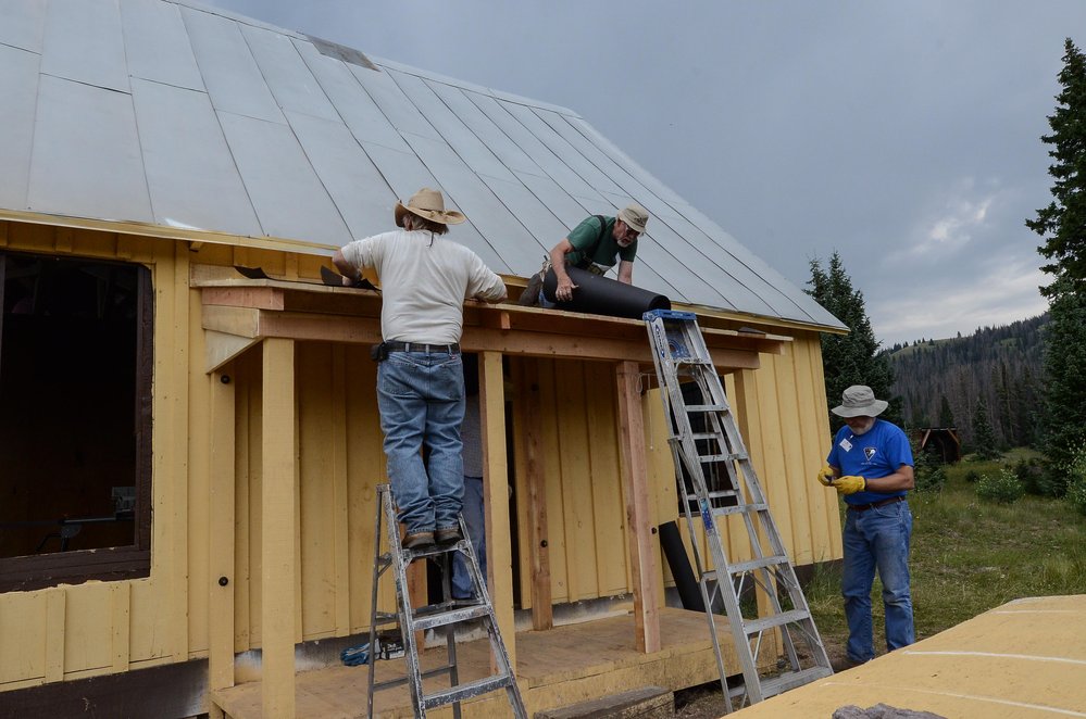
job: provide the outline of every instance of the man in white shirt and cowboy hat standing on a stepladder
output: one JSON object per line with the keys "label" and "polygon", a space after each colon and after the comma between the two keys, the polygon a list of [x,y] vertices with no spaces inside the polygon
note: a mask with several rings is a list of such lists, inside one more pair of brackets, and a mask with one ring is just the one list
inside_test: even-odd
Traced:
{"label": "man in white shirt and cowboy hat standing on a stepladder", "polygon": [[[392,496],[407,525],[405,548],[459,541],[464,495],[464,300],[505,299],[505,285],[474,252],[441,236],[464,222],[423,188],[397,203],[402,230],[350,242],[333,255],[345,283],[372,267],[380,278],[380,336],[374,348],[377,408]],[[429,451],[423,464],[423,446]]]}

